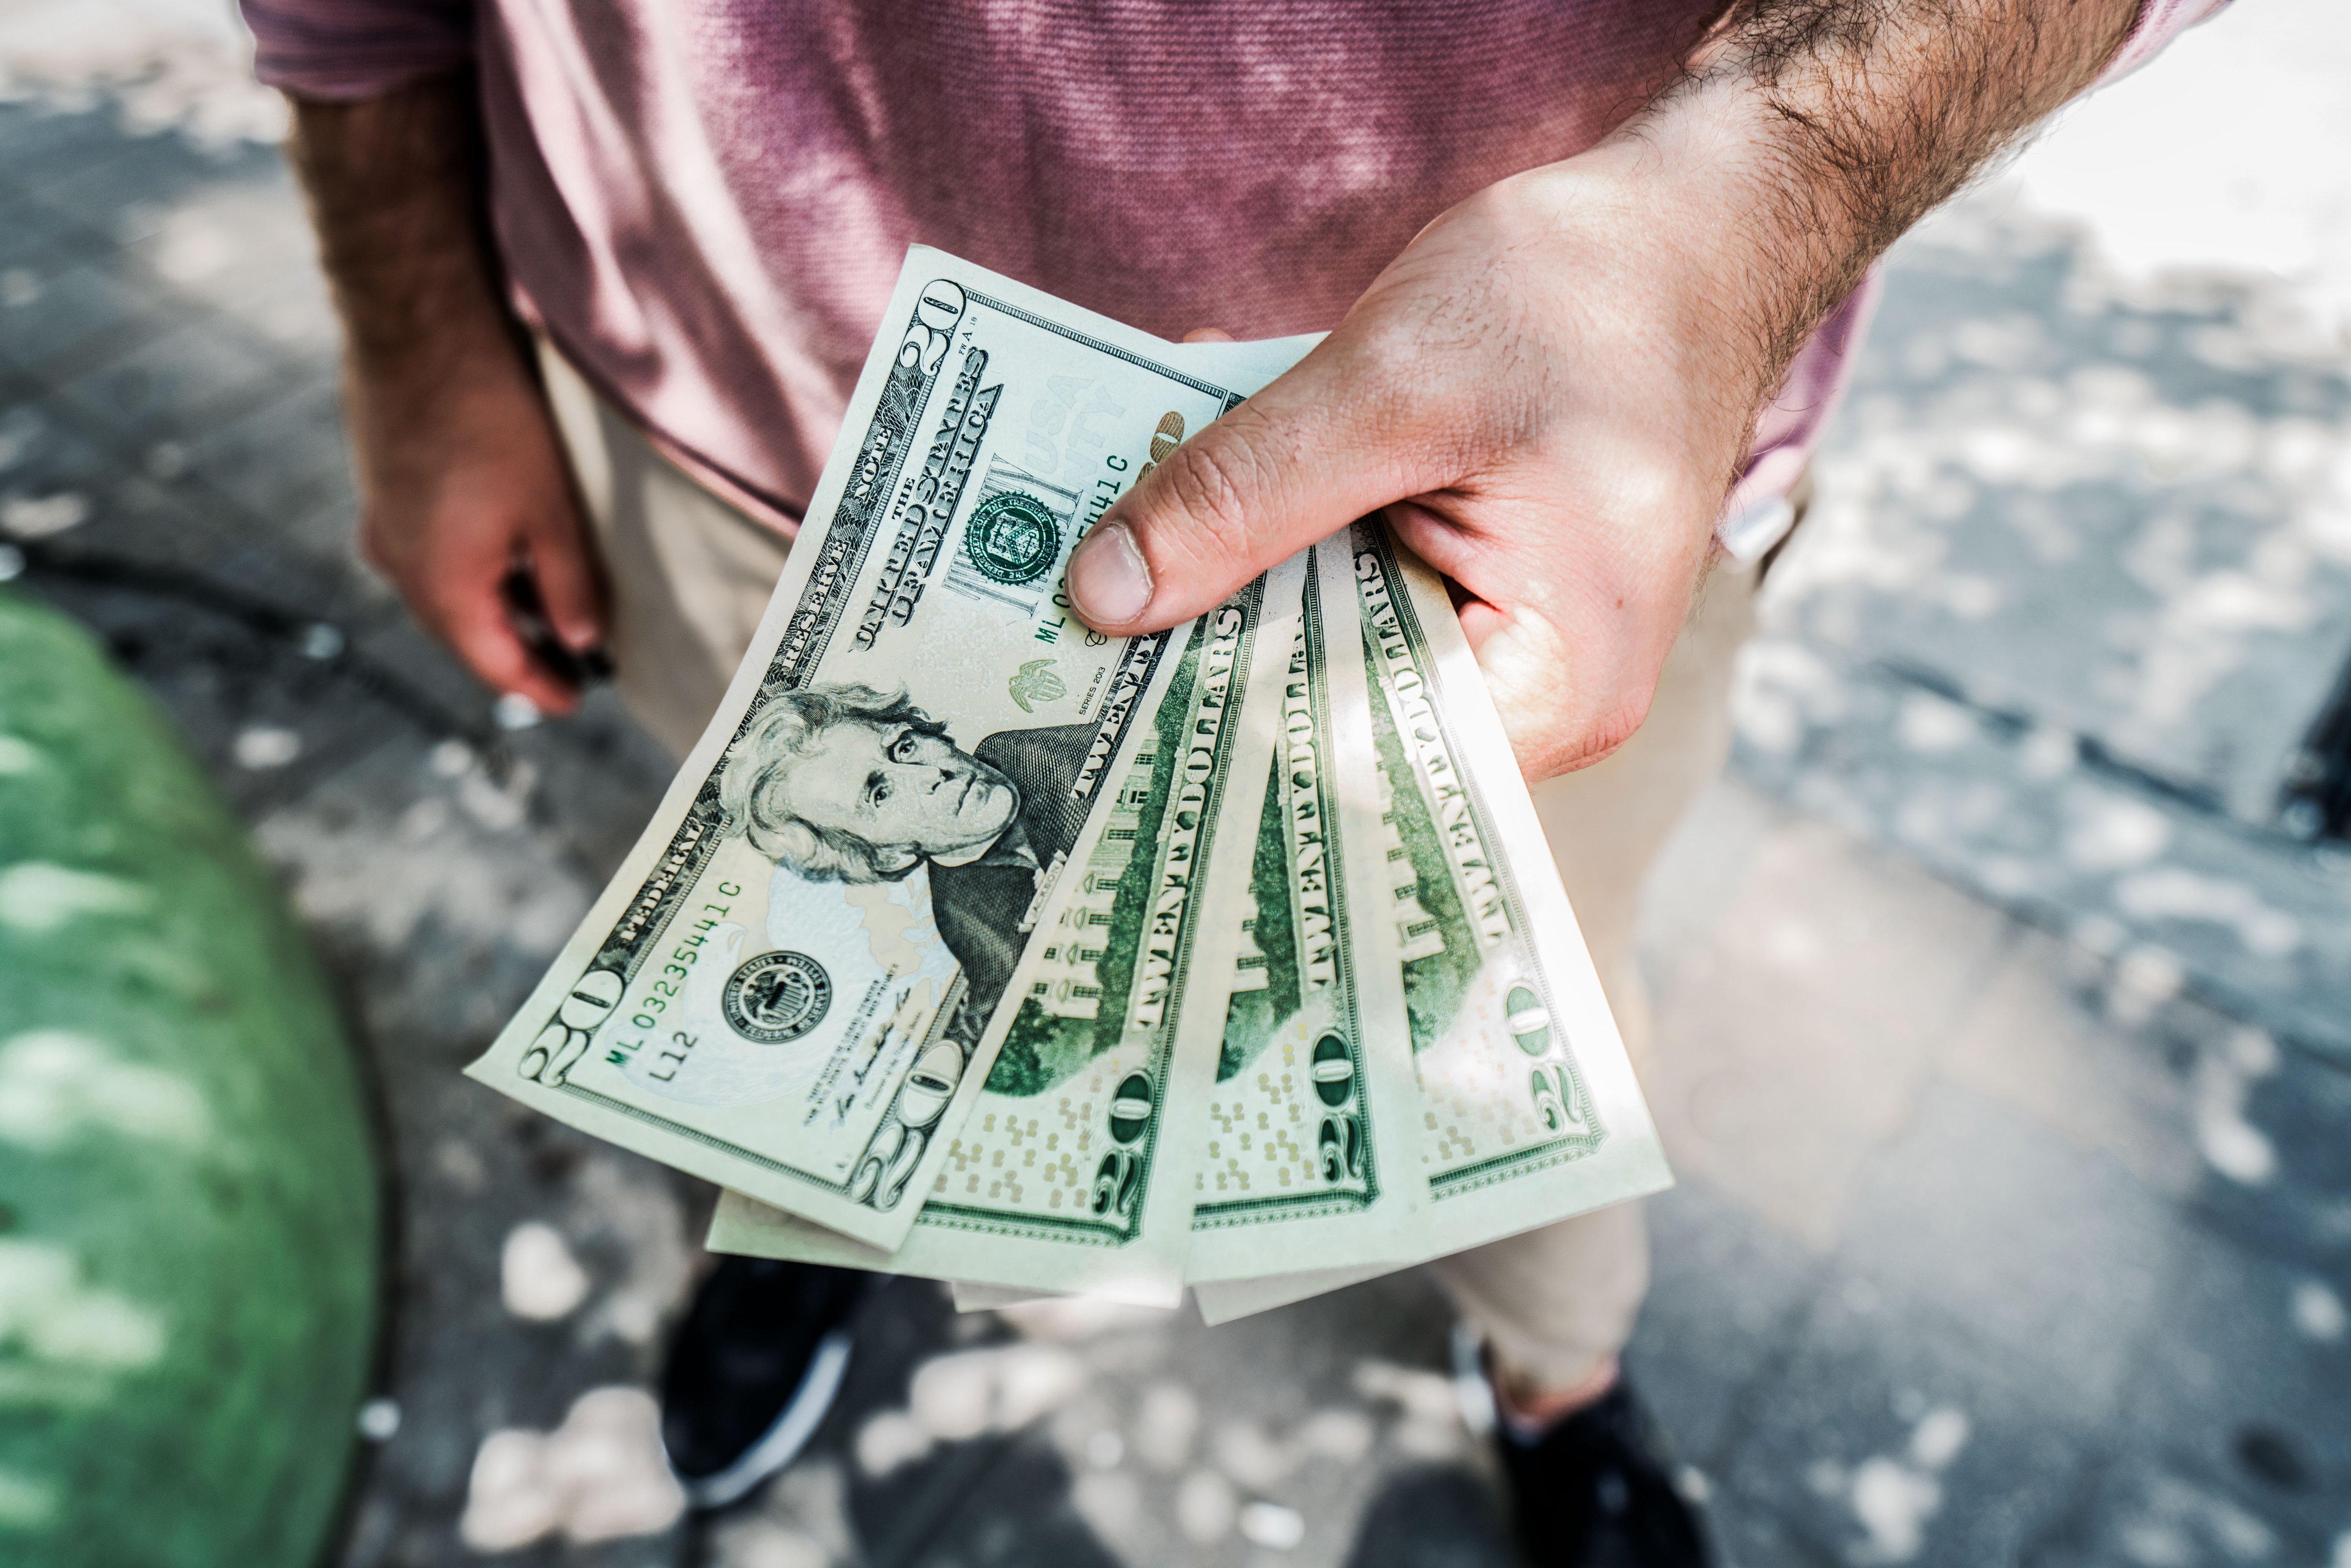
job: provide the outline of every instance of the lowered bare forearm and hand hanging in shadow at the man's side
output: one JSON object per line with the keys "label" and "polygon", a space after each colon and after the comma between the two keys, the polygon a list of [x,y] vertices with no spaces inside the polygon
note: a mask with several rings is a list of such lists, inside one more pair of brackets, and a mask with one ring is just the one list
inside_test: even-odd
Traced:
{"label": "lowered bare forearm and hand hanging in shadow at the man's side", "polygon": [[569,712],[578,693],[515,630],[505,581],[529,574],[574,654],[604,618],[545,397],[498,301],[473,80],[294,110],[346,329],[360,548],[475,675]]}

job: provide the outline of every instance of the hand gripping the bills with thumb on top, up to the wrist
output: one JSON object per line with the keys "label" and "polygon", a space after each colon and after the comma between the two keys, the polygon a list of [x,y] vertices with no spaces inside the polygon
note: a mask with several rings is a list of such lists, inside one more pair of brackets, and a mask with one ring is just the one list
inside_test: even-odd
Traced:
{"label": "hand gripping the bills with thumb on top, up to the wrist", "polygon": [[1528,778],[1615,750],[1775,374],[1723,331],[1719,235],[1636,202],[1655,179],[1636,155],[1535,169],[1429,223],[1314,353],[1110,510],[1070,569],[1077,611],[1176,625],[1385,508],[1469,595]]}

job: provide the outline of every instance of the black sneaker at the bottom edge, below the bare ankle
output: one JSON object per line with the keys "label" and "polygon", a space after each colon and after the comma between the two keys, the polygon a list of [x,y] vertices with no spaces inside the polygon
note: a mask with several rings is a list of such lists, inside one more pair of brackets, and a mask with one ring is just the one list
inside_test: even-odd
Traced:
{"label": "black sneaker at the bottom edge, below the bare ankle", "polygon": [[1672,1443],[1617,1373],[1613,1389],[1535,1436],[1500,1422],[1519,1549],[1535,1568],[1582,1568],[1613,1535],[1639,1568],[1707,1568],[1707,1530],[1679,1486]]}

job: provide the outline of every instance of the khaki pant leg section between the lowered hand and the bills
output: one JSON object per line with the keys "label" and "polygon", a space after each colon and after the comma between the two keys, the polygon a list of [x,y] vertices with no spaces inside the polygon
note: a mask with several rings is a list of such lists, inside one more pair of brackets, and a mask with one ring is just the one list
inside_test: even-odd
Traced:
{"label": "khaki pant leg section between the lowered hand and the bills", "polygon": [[726,696],[792,541],[689,480],[545,341],[538,364],[604,557],[614,684],[630,717],[684,757]]}

